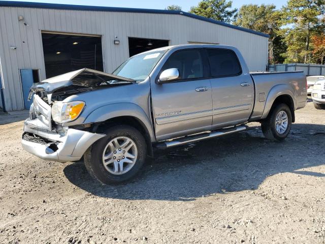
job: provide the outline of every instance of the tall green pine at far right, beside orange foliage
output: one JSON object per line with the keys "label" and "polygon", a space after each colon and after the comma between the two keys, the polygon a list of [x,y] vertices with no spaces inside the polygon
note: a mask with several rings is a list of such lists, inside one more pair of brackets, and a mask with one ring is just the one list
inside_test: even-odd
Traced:
{"label": "tall green pine at far right, beside orange foliage", "polygon": [[287,24],[283,29],[288,46],[286,62],[310,61],[310,37],[319,31],[324,8],[324,0],[288,0],[282,8]]}

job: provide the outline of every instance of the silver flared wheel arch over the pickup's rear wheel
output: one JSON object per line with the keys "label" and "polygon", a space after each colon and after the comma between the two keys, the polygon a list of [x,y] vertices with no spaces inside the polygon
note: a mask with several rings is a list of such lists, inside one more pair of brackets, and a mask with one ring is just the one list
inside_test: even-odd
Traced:
{"label": "silver flared wheel arch over the pickup's rear wheel", "polygon": [[293,88],[291,88],[289,85],[287,84],[278,84],[275,85],[271,88],[268,97],[266,99],[266,104],[265,104],[265,108],[264,108],[264,112],[262,115],[262,119],[266,118],[271,110],[271,107],[275,101],[276,98],[278,98],[281,95],[289,95],[292,99],[292,101],[294,102],[294,110],[296,110],[296,99],[295,99],[295,94],[293,92]]}

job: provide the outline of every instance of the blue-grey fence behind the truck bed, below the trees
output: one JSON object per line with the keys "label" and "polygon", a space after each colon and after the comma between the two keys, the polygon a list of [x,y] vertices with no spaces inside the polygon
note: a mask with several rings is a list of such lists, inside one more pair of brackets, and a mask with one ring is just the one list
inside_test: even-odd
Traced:
{"label": "blue-grey fence behind the truck bed, below the trees", "polygon": [[269,65],[269,71],[303,71],[305,75],[325,75],[325,65],[315,64],[280,64]]}

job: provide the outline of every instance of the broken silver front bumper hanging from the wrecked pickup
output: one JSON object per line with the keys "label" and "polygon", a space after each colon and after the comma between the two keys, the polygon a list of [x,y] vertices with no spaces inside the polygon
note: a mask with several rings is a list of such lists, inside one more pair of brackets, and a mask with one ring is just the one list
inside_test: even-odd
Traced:
{"label": "broken silver front bumper hanging from the wrecked pickup", "polygon": [[103,138],[103,134],[95,134],[87,131],[68,129],[65,133],[46,131],[37,127],[37,119],[27,118],[24,122],[24,134],[36,136],[36,140],[24,136],[21,140],[22,147],[41,159],[67,162],[78,161],[85,151],[95,141]]}

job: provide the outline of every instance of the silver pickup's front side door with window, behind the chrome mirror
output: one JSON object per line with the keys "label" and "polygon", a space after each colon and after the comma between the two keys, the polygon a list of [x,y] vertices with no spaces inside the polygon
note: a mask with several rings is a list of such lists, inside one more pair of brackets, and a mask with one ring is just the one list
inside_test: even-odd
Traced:
{"label": "silver pickup's front side door with window, behind the chrome mirror", "polygon": [[180,79],[151,85],[157,140],[210,130],[212,90],[210,80],[205,78],[202,49],[174,52],[161,72],[170,68],[178,69]]}

